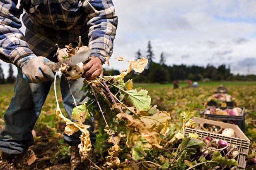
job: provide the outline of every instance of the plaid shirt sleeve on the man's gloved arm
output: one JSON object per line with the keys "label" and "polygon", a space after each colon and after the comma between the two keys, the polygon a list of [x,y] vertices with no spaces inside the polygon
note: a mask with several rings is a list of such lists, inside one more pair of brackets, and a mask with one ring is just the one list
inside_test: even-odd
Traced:
{"label": "plaid shirt sleeve on the man's gloved arm", "polygon": [[23,9],[17,9],[16,5],[16,0],[0,0],[0,59],[13,64],[33,53],[19,31]]}

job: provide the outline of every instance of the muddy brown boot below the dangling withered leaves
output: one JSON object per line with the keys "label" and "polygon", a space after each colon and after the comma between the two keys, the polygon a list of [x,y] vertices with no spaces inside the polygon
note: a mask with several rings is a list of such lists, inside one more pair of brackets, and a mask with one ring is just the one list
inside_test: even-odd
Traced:
{"label": "muddy brown boot below the dangling withered leaves", "polygon": [[[89,170],[91,162],[88,159],[85,159],[81,162],[81,157],[79,155],[79,148],[77,146],[71,146],[70,148],[70,164],[71,170]],[[89,153],[89,158],[92,156],[92,151]]]}

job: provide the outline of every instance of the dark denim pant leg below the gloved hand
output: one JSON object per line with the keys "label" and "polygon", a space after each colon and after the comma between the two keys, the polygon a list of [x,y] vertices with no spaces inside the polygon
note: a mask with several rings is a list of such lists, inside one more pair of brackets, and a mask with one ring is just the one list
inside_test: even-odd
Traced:
{"label": "dark denim pant leg below the gloved hand", "polygon": [[22,70],[14,86],[14,96],[4,115],[5,127],[0,131],[0,150],[7,154],[24,153],[34,143],[33,129],[52,82],[26,83]]}

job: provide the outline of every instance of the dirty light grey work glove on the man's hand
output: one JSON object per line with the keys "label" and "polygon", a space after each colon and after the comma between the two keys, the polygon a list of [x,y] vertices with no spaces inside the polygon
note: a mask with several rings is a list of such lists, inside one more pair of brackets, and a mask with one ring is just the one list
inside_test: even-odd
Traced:
{"label": "dirty light grey work glove on the man's hand", "polygon": [[54,74],[49,68],[54,62],[42,56],[29,54],[27,57],[20,59],[17,66],[22,68],[23,78],[27,83],[41,83],[44,81],[54,80]]}

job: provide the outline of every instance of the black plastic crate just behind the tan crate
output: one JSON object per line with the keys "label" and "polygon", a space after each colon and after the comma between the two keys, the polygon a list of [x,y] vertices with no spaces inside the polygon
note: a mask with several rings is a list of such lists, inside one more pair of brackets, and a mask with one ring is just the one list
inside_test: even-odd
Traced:
{"label": "black plastic crate just behind the tan crate", "polygon": [[[229,121],[230,123],[234,123],[236,125],[238,125],[240,127],[240,129],[244,132],[245,130],[245,123],[244,123],[244,110],[245,108],[244,107],[239,107],[242,109],[242,113],[241,113],[241,116],[230,116],[230,115],[215,115],[215,114],[205,114],[205,111],[206,110],[210,110],[210,107],[209,106],[208,108],[206,108],[204,111],[202,111],[200,113],[200,116],[203,117],[205,116],[206,119],[210,119],[210,120],[227,120]],[[222,110],[225,110],[225,109],[233,109],[234,107],[220,107],[220,106],[215,106],[215,108],[220,108]]]}

